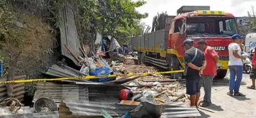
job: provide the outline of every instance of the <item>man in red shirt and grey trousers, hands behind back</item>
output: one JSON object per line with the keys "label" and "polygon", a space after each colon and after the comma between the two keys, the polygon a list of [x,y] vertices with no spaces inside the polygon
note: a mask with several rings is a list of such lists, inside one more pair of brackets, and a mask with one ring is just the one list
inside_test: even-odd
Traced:
{"label": "man in red shirt and grey trousers, hands behind back", "polygon": [[205,60],[207,62],[206,68],[203,71],[203,87],[205,90],[205,96],[203,98],[203,104],[201,106],[206,107],[210,106],[211,101],[211,92],[212,92],[212,80],[216,76],[217,72],[217,62],[219,61],[219,56],[215,50],[208,46],[205,40],[200,40],[198,42],[200,49],[205,53]]}

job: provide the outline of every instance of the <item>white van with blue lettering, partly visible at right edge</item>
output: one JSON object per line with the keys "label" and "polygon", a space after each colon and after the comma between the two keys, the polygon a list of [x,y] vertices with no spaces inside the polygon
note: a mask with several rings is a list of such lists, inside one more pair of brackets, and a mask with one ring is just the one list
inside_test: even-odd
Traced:
{"label": "white van with blue lettering, partly visible at right edge", "polygon": [[251,53],[251,49],[256,47],[256,33],[248,33],[245,37],[245,52]]}

